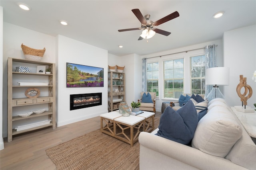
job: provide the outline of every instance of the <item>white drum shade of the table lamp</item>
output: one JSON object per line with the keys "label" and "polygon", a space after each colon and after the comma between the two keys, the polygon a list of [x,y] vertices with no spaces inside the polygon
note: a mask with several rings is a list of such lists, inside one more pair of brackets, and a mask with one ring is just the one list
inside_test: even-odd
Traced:
{"label": "white drum shade of the table lamp", "polygon": [[206,85],[229,85],[229,68],[212,67],[207,68],[205,73]]}

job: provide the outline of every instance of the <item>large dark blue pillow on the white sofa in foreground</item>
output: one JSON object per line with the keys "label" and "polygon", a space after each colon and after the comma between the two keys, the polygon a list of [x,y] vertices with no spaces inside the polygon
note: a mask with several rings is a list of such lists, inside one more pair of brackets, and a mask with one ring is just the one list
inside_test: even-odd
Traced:
{"label": "large dark blue pillow on the white sofa in foreground", "polygon": [[177,111],[168,106],[161,115],[156,135],[187,145],[194,137],[197,123],[197,111],[191,100]]}

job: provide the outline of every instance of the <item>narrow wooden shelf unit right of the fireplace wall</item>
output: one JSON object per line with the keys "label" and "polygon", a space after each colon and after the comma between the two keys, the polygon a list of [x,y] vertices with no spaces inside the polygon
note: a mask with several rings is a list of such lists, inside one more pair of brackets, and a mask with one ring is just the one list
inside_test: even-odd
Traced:
{"label": "narrow wooden shelf unit right of the fireplace wall", "polygon": [[[119,92],[115,92],[118,89]],[[118,110],[114,108],[116,104],[125,100],[125,73],[123,72],[108,72],[108,111]]]}

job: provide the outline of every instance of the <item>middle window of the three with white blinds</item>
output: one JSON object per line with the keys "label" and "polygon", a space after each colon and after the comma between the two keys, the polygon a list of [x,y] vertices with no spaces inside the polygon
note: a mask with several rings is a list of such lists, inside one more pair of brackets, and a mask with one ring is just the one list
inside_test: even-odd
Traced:
{"label": "middle window of the three with white blinds", "polygon": [[179,98],[184,93],[184,58],[163,62],[164,98]]}

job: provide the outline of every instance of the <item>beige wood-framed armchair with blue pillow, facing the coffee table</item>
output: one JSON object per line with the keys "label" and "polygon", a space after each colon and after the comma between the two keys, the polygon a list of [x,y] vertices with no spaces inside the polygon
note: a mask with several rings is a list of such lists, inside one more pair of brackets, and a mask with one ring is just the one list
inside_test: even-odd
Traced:
{"label": "beige wood-framed armchair with blue pillow, facing the coffee table", "polygon": [[[150,94],[150,95],[148,95]],[[156,92],[140,92],[140,110],[156,112]],[[151,96],[151,98],[150,98]]]}

